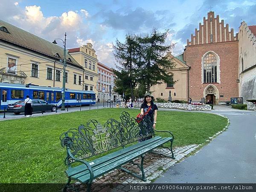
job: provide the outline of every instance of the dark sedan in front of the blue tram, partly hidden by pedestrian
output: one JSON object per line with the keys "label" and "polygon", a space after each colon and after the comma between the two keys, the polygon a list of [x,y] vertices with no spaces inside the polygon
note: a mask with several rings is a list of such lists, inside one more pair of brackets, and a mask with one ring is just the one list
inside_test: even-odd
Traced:
{"label": "dark sedan in front of the blue tram, partly hidden by pedestrian", "polygon": [[[57,110],[56,104],[50,104],[40,99],[32,99],[31,106],[32,106],[33,112]],[[24,113],[24,111],[25,111],[25,100],[21,100],[13,104],[9,104],[7,108],[7,112],[9,113],[20,114],[20,113]]]}

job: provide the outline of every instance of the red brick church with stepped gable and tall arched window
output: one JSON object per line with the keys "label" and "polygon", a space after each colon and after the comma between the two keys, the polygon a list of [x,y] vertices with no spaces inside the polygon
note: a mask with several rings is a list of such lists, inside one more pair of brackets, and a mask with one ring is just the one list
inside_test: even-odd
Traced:
{"label": "red brick church with stepped gable and tall arched window", "polygon": [[203,24],[191,34],[183,52],[188,71],[188,97],[192,101],[204,98],[214,104],[224,104],[239,96],[238,35],[214,12],[204,17]]}

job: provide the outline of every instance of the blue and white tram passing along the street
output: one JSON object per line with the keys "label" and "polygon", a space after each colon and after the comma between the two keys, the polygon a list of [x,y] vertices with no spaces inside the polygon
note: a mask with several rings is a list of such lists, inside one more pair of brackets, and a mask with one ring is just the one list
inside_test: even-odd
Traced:
{"label": "blue and white tram passing along the street", "polygon": [[[54,103],[61,107],[61,88],[43,87],[36,85],[23,85],[0,83],[0,110],[8,107],[8,104],[26,99],[42,99],[48,103]],[[93,91],[65,90],[65,106],[67,105],[94,105],[96,96]]]}

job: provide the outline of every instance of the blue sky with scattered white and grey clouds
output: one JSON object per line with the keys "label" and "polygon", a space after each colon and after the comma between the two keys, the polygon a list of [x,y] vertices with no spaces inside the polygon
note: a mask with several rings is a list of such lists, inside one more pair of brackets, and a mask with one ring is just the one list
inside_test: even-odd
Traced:
{"label": "blue sky with scattered white and grey clouds", "polygon": [[255,0],[0,0],[0,19],[52,42],[64,39],[67,49],[93,44],[99,62],[115,67],[113,44],[125,34],[169,29],[166,44],[173,55],[214,11],[238,32],[241,21],[256,25]]}

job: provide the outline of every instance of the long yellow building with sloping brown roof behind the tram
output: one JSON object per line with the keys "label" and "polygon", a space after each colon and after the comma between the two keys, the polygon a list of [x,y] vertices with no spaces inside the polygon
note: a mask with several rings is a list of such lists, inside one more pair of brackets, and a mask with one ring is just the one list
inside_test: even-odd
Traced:
{"label": "long yellow building with sloping brown roof behind the tram", "polygon": [[[63,58],[62,47],[0,20],[0,82],[62,87]],[[66,58],[66,88],[82,90],[83,66]]]}

